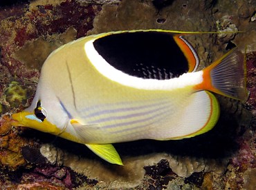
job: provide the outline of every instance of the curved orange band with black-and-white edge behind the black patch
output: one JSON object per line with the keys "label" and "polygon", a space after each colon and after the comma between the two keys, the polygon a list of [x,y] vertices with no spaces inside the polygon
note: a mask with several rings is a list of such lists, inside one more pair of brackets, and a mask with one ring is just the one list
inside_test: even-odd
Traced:
{"label": "curved orange band with black-and-white edge behind the black patch", "polygon": [[182,38],[181,35],[174,35],[174,41],[179,45],[181,48],[181,51],[185,55],[186,59],[188,60],[188,66],[189,70],[188,72],[194,72],[196,68],[199,65],[199,58],[194,51],[193,47],[186,41],[185,39]]}

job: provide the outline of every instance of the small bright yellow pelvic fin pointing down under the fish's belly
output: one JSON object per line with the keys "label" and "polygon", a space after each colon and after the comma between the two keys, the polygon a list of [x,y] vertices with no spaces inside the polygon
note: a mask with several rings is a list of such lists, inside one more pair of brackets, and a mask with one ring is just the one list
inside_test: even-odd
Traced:
{"label": "small bright yellow pelvic fin pointing down under the fish's belly", "polygon": [[107,145],[93,145],[93,144],[85,144],[86,147],[91,149],[95,154],[100,156],[103,160],[111,164],[123,165],[122,160],[116,151],[116,149],[111,144]]}

